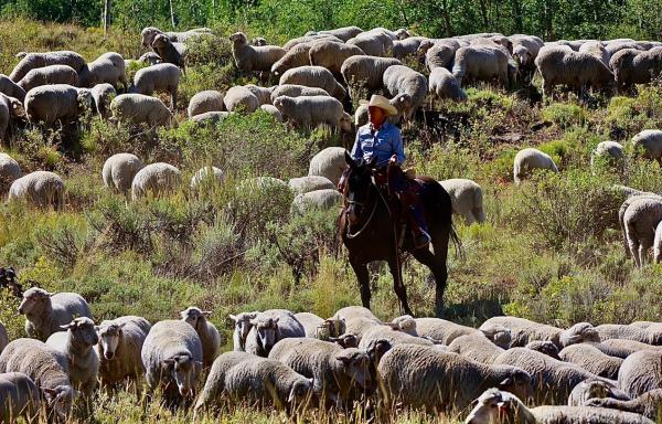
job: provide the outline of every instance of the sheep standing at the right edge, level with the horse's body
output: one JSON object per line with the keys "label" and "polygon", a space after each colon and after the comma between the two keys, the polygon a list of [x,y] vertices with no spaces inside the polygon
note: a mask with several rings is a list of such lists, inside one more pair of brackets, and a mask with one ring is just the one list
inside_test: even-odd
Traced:
{"label": "sheep standing at the right edge, level with the horse's body", "polygon": [[652,197],[630,202],[623,214],[623,227],[637,267],[643,267],[648,250],[653,246],[655,227],[662,221],[662,200]]}

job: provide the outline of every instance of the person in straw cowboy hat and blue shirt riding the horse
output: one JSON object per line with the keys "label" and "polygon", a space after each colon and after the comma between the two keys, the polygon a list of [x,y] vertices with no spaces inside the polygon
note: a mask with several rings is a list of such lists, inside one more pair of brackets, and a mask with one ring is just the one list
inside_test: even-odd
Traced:
{"label": "person in straw cowboy hat and blue shirt riding the horse", "polygon": [[[387,120],[389,115],[397,115],[397,109],[384,96],[373,95],[370,102],[362,100],[367,105],[370,123],[359,128],[356,140],[352,148],[352,158],[363,159],[366,162],[375,160],[377,169],[386,169],[389,166],[402,165],[405,161],[403,137],[401,130]],[[339,190],[344,189],[345,174],[340,180]],[[430,236],[426,231],[425,220],[419,208],[417,208],[417,195],[410,189],[413,184],[393,184],[401,202],[408,211],[409,226],[414,233],[414,245],[416,248],[426,247]],[[393,187],[392,186],[392,187]]]}

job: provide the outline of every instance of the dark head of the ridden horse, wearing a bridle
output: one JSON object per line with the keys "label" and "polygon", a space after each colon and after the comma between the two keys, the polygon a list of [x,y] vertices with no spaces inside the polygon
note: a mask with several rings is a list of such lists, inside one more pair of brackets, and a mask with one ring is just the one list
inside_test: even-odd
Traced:
{"label": "dark head of the ridden horse, wearing a bridle", "polygon": [[366,209],[369,201],[373,169],[376,163],[376,158],[370,162],[363,159],[354,160],[350,153],[345,151],[345,161],[350,167],[346,176],[346,184],[344,188],[346,197],[345,213],[351,225],[355,225],[361,220],[361,214]]}

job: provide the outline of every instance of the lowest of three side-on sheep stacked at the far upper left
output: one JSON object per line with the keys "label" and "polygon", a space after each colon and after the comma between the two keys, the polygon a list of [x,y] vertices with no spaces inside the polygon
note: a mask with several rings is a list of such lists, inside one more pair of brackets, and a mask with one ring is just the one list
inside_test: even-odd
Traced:
{"label": "lowest of three side-on sheep stacked at the far upper left", "polygon": [[92,92],[66,84],[42,85],[25,94],[25,114],[31,123],[51,125],[56,120],[77,119],[93,108]]}

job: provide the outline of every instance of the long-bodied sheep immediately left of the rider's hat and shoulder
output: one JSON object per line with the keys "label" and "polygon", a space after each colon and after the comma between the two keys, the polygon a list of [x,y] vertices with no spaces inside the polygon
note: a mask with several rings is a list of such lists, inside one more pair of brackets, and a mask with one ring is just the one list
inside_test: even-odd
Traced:
{"label": "long-bodied sheep immediately left of the rider's hat and shoulder", "polygon": [[325,124],[332,131],[352,130],[352,117],[343,112],[342,103],[333,97],[280,96],[274,100],[274,106],[298,127],[314,128]]}

